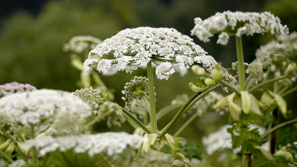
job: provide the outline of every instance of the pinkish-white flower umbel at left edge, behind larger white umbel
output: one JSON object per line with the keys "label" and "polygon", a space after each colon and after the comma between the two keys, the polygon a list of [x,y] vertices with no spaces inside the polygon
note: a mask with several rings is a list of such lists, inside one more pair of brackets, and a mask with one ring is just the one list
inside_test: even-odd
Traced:
{"label": "pinkish-white flower umbel at left edge, behind larger white umbel", "polygon": [[4,85],[0,85],[0,98],[12,93],[21,93],[31,90],[36,90],[35,86],[32,86],[30,84],[21,84],[18,82],[6,83]]}

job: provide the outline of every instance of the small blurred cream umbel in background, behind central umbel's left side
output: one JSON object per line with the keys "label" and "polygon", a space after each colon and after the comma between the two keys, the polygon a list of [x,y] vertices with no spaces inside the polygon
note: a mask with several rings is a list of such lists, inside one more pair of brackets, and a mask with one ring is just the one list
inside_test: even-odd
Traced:
{"label": "small blurred cream umbel in background, behind central umbel's left side", "polygon": [[63,50],[65,52],[71,50],[75,53],[81,53],[86,48],[94,49],[96,45],[101,42],[101,39],[95,38],[94,36],[74,36],[67,44],[63,45]]}

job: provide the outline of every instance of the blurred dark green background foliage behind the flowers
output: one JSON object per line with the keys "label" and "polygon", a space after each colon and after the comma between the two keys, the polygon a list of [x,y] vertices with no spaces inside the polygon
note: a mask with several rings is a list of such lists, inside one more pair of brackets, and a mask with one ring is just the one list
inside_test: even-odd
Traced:
{"label": "blurred dark green background foliage behind the flowers", "polygon": [[[50,88],[75,91],[79,87],[80,71],[70,65],[70,53],[62,50],[63,44],[77,35],[91,35],[99,39],[109,38],[117,31],[139,26],[176,28],[189,35],[194,27],[194,18],[206,19],[216,12],[270,11],[278,16],[282,24],[287,24],[290,32],[297,30],[296,0],[61,0],[61,1],[0,1],[0,85],[17,81],[29,83],[38,89]],[[227,46],[217,45],[217,36],[209,43],[191,36],[212,55],[222,66],[231,67],[236,61],[235,38]],[[250,63],[261,44],[274,38],[271,35],[244,36],[245,62]],[[146,70],[132,75],[119,73],[115,76],[102,76],[108,88],[115,90],[115,101],[124,105],[121,90],[135,75],[145,75]],[[173,74],[168,81],[155,78],[157,111],[170,104],[177,94],[193,92],[187,87],[195,82],[189,73],[180,77]],[[218,90],[221,92],[221,90]],[[225,94],[226,95],[226,94]],[[286,97],[288,104],[296,103],[296,95]],[[296,106],[289,106],[296,110]],[[158,122],[162,129],[177,111]],[[201,137],[227,124],[228,113],[218,116],[210,113],[199,118],[181,136],[200,143]],[[170,133],[174,133],[185,120],[178,120]],[[98,123],[98,131],[128,131],[126,123],[121,128],[107,129]]]}

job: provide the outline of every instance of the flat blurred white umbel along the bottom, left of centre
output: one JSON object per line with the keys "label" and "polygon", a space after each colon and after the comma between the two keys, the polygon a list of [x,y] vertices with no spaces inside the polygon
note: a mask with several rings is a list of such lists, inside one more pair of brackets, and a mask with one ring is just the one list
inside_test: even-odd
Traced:
{"label": "flat blurred white umbel along the bottom, left of centre", "polygon": [[101,152],[107,152],[110,156],[120,154],[127,146],[138,149],[142,143],[142,136],[131,135],[127,132],[105,132],[81,136],[41,136],[27,140],[22,149],[28,151],[36,147],[38,156],[42,157],[56,149],[65,152],[73,148],[76,153],[87,152],[90,157],[93,157]]}

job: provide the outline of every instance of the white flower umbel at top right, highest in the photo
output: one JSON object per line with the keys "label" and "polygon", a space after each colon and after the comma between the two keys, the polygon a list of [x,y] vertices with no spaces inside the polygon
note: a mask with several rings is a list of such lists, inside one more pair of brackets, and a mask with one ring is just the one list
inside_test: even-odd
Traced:
{"label": "white flower umbel at top right, highest in the photo", "polygon": [[197,36],[203,42],[209,42],[209,38],[220,33],[217,44],[226,45],[229,35],[242,36],[263,34],[286,35],[289,33],[287,25],[282,25],[280,19],[270,12],[217,12],[215,15],[202,20],[194,19],[195,26],[191,30],[191,35]]}

